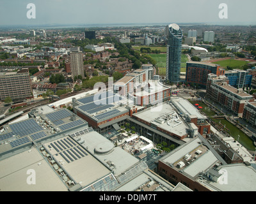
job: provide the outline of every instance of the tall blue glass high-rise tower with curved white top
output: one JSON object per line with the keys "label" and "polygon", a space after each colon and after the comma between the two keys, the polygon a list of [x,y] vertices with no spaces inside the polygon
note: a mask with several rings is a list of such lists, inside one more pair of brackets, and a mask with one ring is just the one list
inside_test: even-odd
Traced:
{"label": "tall blue glass high-rise tower with curved white top", "polygon": [[168,38],[166,51],[166,80],[179,82],[182,46],[182,31],[179,25],[167,25],[166,36]]}

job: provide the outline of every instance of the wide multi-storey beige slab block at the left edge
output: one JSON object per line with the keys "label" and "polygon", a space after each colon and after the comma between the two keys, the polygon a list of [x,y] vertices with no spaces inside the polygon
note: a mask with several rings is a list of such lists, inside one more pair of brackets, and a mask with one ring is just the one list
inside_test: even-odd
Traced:
{"label": "wide multi-storey beige slab block at the left edge", "polygon": [[0,99],[4,100],[8,96],[12,100],[33,96],[28,69],[21,69],[12,73],[0,73]]}

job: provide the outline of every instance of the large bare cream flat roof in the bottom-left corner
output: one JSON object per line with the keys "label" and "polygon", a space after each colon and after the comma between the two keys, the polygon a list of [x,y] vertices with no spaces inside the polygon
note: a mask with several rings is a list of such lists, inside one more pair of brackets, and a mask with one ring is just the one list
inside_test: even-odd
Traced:
{"label": "large bare cream flat roof in the bottom-left corner", "polygon": [[[67,187],[35,148],[0,161],[1,191],[67,191]],[[35,172],[35,184],[27,179]]]}

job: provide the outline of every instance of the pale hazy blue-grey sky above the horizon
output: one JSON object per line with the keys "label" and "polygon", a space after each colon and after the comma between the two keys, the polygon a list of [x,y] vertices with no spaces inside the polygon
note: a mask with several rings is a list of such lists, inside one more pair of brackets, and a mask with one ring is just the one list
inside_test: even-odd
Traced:
{"label": "pale hazy blue-grey sky above the horizon", "polygon": [[[1,0],[0,26],[90,24],[256,25],[255,0]],[[35,18],[28,18],[29,3]],[[221,3],[227,18],[220,18]],[[29,12],[30,13],[30,12]],[[31,14],[31,13],[30,13]]]}

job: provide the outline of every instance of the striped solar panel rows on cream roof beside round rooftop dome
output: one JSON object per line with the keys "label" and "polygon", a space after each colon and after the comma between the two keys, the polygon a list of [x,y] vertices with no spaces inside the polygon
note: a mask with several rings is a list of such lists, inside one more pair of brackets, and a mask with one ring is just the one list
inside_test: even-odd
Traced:
{"label": "striped solar panel rows on cream roof beside round rooftop dome", "polygon": [[55,142],[51,142],[50,147],[53,147],[56,152],[58,152],[58,154],[60,154],[60,156],[67,161],[67,163],[88,156],[86,151],[83,150],[82,147],[79,147],[79,145],[77,145],[70,138],[63,138]]}

